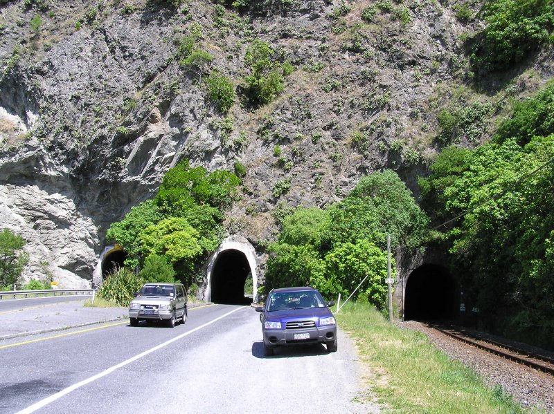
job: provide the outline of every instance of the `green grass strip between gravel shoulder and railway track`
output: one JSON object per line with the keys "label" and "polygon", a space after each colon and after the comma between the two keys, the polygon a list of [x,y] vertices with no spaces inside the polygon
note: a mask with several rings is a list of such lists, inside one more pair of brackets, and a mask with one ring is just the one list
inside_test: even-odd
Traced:
{"label": "green grass strip between gravel shoulder and railway track", "polygon": [[386,413],[524,413],[499,389],[460,362],[449,359],[413,330],[391,325],[361,303],[348,303],[337,314],[341,329],[355,339],[368,375],[370,393]]}

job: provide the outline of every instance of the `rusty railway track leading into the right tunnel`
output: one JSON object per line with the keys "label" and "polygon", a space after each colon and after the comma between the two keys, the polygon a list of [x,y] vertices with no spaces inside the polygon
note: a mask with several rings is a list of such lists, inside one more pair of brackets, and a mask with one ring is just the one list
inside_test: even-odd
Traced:
{"label": "rusty railway track leading into the right tunnel", "polygon": [[554,359],[544,355],[536,355],[532,352],[521,350],[507,344],[500,344],[499,342],[492,341],[491,339],[475,337],[467,332],[461,332],[459,330],[454,330],[453,328],[445,328],[443,326],[432,324],[429,324],[429,328],[438,330],[444,335],[457,339],[458,341],[462,341],[465,344],[470,344],[471,346],[475,346],[476,348],[485,350],[494,355],[499,355],[500,357],[509,359],[510,361],[515,361],[517,364],[529,366],[554,376]]}

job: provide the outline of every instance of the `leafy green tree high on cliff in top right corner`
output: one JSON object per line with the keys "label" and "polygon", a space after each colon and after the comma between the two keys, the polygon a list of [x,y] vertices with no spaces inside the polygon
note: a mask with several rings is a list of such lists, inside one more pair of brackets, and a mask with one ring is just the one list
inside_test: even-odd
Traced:
{"label": "leafy green tree high on cliff in top right corner", "polygon": [[487,26],[474,39],[470,57],[479,73],[507,70],[551,41],[551,0],[488,0],[483,4],[482,15]]}

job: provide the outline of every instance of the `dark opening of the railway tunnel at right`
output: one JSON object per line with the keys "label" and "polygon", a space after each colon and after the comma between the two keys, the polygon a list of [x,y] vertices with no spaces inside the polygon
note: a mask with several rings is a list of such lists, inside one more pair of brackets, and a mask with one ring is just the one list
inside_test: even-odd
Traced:
{"label": "dark opening of the railway tunnel at right", "polygon": [[456,287],[445,267],[422,265],[412,272],[406,283],[406,321],[452,321],[455,310]]}

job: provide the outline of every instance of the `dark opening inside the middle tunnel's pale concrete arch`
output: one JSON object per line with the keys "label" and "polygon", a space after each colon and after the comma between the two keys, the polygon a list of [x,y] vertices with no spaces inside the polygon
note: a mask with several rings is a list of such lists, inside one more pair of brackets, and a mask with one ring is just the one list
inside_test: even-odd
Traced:
{"label": "dark opening inside the middle tunnel's pale concrete arch", "polygon": [[[217,256],[211,276],[213,303],[249,305],[252,298],[244,295],[244,283],[251,277],[247,256],[239,250],[224,250]],[[250,292],[251,293],[251,292]]]}

